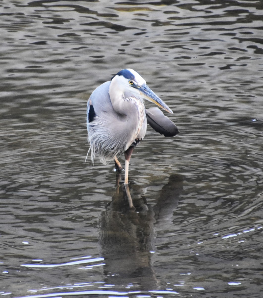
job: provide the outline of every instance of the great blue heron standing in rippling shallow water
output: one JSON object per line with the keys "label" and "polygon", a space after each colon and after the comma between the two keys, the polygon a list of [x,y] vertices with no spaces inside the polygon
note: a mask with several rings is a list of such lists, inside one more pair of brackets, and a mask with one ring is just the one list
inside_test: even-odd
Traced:
{"label": "great blue heron standing in rippling shallow water", "polygon": [[[172,110],[147,85],[133,69],[123,69],[110,81],[97,87],[87,105],[87,129],[91,159],[98,156],[100,162],[115,162],[121,170],[117,155],[125,155],[125,180],[128,184],[130,157],[133,148],[144,138],[148,123],[164,136],[175,136],[177,127],[158,108],[144,107],[144,99]],[[88,151],[88,154],[89,154]]]}

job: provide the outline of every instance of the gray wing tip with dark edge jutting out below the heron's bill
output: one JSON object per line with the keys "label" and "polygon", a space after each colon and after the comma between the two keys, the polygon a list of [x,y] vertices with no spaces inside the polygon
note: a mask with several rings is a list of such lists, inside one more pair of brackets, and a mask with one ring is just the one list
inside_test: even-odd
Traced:
{"label": "gray wing tip with dark edge jutting out below the heron's bill", "polygon": [[175,136],[179,133],[177,126],[157,107],[146,110],[148,124],[164,136]]}

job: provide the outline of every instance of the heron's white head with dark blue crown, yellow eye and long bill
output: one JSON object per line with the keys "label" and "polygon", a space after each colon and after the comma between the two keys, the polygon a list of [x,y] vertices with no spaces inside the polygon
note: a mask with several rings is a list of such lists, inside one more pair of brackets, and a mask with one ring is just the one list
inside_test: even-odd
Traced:
{"label": "heron's white head with dark blue crown, yellow eye and long bill", "polygon": [[155,103],[167,112],[173,114],[173,111],[160,99],[147,85],[145,80],[133,69],[122,69],[114,77],[111,82],[117,86],[124,94],[128,96],[140,96],[144,99]]}

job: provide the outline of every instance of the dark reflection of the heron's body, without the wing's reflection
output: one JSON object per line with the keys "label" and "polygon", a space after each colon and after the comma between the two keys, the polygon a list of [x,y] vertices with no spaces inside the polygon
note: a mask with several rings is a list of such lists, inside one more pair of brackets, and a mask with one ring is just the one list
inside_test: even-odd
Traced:
{"label": "dark reflection of the heron's body, without the wing's reflection", "polygon": [[136,199],[140,212],[131,209],[123,200],[126,187],[117,186],[117,189],[100,222],[100,246],[107,282],[124,286],[135,283],[141,289],[156,288],[151,262],[154,212],[152,208],[141,207],[145,205],[142,199]]}

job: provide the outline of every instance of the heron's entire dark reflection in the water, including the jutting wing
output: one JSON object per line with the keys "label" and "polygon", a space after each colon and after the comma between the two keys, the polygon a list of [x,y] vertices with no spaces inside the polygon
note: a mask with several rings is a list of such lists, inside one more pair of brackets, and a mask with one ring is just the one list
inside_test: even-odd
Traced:
{"label": "heron's entire dark reflection in the water, including the jutting wing", "polygon": [[[134,190],[133,208],[130,208],[127,189],[117,182],[116,193],[103,212],[100,221],[100,247],[105,258],[105,280],[114,285],[127,286],[131,282],[141,290],[158,287],[152,266],[155,223],[163,224],[177,208],[182,192],[183,176],[172,175],[168,184],[157,194],[156,205],[147,205]],[[131,196],[133,188],[130,187]],[[137,195],[136,195],[137,193]],[[133,288],[135,289],[135,288]]]}

